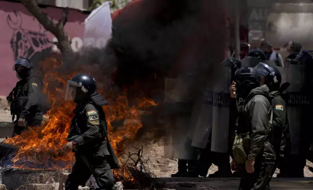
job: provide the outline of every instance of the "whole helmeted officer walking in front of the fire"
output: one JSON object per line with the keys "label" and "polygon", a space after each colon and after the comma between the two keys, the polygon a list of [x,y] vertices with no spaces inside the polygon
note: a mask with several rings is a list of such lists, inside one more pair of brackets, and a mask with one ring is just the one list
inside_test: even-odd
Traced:
{"label": "whole helmeted officer walking in front of the fire", "polygon": [[95,79],[85,74],[68,80],[66,100],[70,99],[77,106],[73,111],[75,116],[65,149],[75,152],[76,161],[65,183],[65,190],[77,190],[91,174],[100,190],[115,189],[111,169],[120,165],[107,137],[102,106],[108,102],[97,92]]}

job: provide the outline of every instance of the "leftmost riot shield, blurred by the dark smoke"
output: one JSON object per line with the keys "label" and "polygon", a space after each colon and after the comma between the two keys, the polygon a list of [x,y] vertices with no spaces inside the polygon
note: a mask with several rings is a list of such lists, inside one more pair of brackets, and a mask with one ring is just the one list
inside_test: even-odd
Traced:
{"label": "leftmost riot shield, blurred by the dark smoke", "polygon": [[187,78],[165,79],[164,106],[167,112],[164,120],[166,134],[164,138],[164,156],[166,158],[196,159],[191,146],[194,126],[190,125],[191,108],[190,86]]}

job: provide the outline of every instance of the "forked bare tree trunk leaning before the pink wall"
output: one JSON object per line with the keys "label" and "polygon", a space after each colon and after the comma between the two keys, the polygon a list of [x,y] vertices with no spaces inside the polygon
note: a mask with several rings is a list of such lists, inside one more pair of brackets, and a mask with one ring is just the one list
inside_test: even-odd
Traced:
{"label": "forked bare tree trunk leaning before the pink wall", "polygon": [[26,9],[38,20],[38,22],[49,32],[51,32],[57,39],[56,46],[60,49],[62,54],[72,52],[68,34],[64,30],[64,26],[68,20],[69,8],[63,9],[63,15],[58,23],[48,17],[38,6],[36,0],[21,0]]}

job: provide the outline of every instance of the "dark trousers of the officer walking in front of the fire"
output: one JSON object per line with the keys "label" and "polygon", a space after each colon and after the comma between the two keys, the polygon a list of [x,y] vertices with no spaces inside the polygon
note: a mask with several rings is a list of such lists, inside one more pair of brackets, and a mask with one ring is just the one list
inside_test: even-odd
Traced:
{"label": "dark trousers of the officer walking in front of the fire", "polygon": [[65,182],[65,190],[78,190],[78,186],[86,184],[91,174],[100,190],[115,189],[114,177],[106,157],[87,158],[90,168],[81,157],[75,156],[75,159],[72,172]]}

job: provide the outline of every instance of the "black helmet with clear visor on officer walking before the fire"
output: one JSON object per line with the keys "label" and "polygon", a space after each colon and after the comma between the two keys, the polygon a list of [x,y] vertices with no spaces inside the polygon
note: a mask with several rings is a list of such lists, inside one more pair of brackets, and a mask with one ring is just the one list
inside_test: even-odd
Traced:
{"label": "black helmet with clear visor on officer walking before the fire", "polygon": [[67,81],[65,100],[86,101],[96,92],[96,80],[87,74],[78,74]]}

